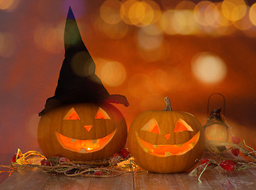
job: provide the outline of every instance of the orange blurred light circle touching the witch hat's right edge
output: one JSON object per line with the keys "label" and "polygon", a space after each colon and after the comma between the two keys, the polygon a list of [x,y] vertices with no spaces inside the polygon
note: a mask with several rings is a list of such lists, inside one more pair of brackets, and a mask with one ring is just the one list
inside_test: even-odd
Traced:
{"label": "orange blurred light circle touching the witch hat's right edge", "polygon": [[108,59],[94,59],[97,64],[96,74],[101,81],[107,86],[120,86],[126,78],[124,66]]}

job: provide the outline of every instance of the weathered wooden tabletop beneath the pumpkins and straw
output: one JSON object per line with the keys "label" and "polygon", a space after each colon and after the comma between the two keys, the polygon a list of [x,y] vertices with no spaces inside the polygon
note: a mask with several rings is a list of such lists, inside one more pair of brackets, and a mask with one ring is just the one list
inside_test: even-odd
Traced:
{"label": "weathered wooden tabletop beneath the pumpkins and straw", "polygon": [[246,169],[220,174],[209,169],[201,177],[189,177],[188,173],[124,173],[119,177],[65,177],[63,174],[43,173],[36,169],[24,169],[12,173],[2,184],[1,190],[37,189],[256,189],[256,171]]}

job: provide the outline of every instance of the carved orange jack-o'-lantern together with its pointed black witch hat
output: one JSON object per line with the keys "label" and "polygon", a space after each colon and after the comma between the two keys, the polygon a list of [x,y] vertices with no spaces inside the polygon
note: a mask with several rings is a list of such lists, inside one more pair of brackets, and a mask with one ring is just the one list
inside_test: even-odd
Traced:
{"label": "carved orange jack-o'-lantern together with its pointed black witch hat", "polygon": [[46,157],[59,154],[71,160],[109,158],[124,148],[127,126],[111,103],[128,106],[126,97],[109,95],[95,74],[90,56],[69,9],[64,32],[65,59],[55,95],[39,113],[38,142]]}

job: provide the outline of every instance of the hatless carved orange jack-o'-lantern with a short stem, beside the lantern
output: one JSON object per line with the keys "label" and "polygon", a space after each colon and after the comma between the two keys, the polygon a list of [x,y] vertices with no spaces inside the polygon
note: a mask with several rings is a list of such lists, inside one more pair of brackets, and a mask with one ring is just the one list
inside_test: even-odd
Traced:
{"label": "hatless carved orange jack-o'-lantern with a short stem, beside the lantern", "polygon": [[147,171],[178,173],[190,169],[204,151],[204,129],[187,112],[170,108],[142,112],[128,131],[128,147],[136,163]]}

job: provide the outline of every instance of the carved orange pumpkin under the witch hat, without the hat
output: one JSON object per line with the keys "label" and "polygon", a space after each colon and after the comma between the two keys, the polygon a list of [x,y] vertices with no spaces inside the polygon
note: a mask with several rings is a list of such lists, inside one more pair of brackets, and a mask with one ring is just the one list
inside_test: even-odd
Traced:
{"label": "carved orange pumpkin under the witch hat, without the hat", "polygon": [[38,142],[46,157],[70,160],[109,158],[124,148],[124,116],[110,104],[83,103],[52,109],[41,117]]}

